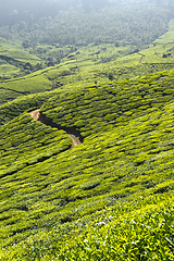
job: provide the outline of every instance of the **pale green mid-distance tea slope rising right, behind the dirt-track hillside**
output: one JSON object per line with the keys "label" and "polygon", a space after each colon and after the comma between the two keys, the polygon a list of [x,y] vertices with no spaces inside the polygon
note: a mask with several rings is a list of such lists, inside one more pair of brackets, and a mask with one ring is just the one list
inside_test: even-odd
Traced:
{"label": "pale green mid-distance tea slope rising right, behind the dirt-track hillside", "polygon": [[[173,28],[173,22],[171,22],[166,34],[138,53],[134,53],[136,46],[90,44],[82,47],[78,51],[63,58],[62,63],[57,66],[0,83],[0,102],[14,100],[18,96],[60,89],[62,86],[73,89],[74,86],[82,88],[92,84],[100,85],[103,82],[108,84],[109,75],[117,82],[171,70],[174,67],[171,42]],[[163,54],[166,54],[166,58],[163,58]]]}

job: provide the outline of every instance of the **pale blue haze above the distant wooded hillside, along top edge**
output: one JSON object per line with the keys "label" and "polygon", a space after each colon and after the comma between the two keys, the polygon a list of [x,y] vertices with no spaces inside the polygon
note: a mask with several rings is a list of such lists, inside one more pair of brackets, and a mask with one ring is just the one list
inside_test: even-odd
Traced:
{"label": "pale blue haze above the distant wooded hillside, along top edge", "polygon": [[107,5],[154,4],[174,10],[174,0],[7,0],[1,2],[0,25],[14,25],[21,21],[35,23],[40,17],[55,17],[60,11],[82,7],[85,12],[100,10]]}

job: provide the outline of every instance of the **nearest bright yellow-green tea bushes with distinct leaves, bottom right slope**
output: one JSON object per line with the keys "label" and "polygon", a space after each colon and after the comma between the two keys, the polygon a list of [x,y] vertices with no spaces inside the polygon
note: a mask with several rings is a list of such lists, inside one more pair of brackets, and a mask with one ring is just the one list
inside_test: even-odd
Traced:
{"label": "nearest bright yellow-green tea bushes with distinct leaves, bottom right slope", "polygon": [[0,260],[173,260],[173,192],[137,195],[1,249]]}

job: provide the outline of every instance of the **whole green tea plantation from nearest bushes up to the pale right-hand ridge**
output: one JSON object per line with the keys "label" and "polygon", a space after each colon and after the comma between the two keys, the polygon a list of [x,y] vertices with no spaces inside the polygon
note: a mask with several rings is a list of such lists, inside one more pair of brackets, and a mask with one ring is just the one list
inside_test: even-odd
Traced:
{"label": "whole green tea plantation from nearest bushes up to the pale right-hand ridge", "polygon": [[173,32],[0,83],[0,260],[174,260]]}

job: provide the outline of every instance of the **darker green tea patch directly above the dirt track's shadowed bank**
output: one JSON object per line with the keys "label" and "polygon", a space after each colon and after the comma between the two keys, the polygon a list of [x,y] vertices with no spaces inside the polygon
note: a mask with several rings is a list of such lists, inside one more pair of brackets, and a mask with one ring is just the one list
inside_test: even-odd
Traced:
{"label": "darker green tea patch directly above the dirt track's shadowed bank", "polygon": [[173,99],[173,71],[133,80],[58,92],[41,107],[48,122],[79,129],[84,137],[125,125]]}

